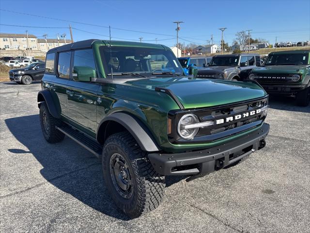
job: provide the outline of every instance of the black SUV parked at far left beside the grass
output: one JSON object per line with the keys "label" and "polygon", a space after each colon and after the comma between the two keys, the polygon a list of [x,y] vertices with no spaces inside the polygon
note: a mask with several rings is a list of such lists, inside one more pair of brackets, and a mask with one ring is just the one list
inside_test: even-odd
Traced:
{"label": "black SUV parked at far left beside the grass", "polygon": [[9,71],[10,80],[16,83],[31,84],[43,78],[45,71],[44,62],[35,62],[25,68],[11,69]]}

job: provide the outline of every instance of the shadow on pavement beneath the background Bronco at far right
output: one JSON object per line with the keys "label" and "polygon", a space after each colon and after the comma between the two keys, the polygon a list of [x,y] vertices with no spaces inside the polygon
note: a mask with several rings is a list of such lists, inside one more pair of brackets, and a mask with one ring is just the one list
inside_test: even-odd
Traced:
{"label": "shadow on pavement beneath the background Bronco at far right", "polygon": [[273,109],[310,113],[310,105],[300,107],[296,105],[295,98],[286,96],[269,96],[269,106]]}

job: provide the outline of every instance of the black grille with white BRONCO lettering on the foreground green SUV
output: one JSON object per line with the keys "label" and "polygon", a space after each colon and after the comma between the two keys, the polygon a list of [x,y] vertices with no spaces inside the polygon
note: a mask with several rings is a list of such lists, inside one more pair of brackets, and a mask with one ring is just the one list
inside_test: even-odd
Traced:
{"label": "black grille with white BRONCO lettering on the foreground green SUV", "polygon": [[241,133],[250,128],[261,125],[266,117],[264,109],[268,106],[268,99],[244,101],[204,109],[190,111],[198,116],[200,122],[212,121],[212,126],[200,128],[196,136],[190,141],[183,139],[177,133],[177,124],[180,118],[189,112],[179,112],[171,116],[174,118],[172,134],[169,135],[171,143],[211,142],[232,134]]}

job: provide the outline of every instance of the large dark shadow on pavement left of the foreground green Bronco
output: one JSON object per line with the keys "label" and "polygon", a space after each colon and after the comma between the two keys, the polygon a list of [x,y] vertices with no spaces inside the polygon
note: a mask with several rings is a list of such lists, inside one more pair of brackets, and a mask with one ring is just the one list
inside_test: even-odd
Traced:
{"label": "large dark shadow on pavement left of the foreground green Bronco", "polygon": [[43,166],[40,173],[49,183],[105,215],[129,220],[109,197],[101,163],[91,153],[67,137],[61,143],[48,144],[42,135],[38,115],[9,118],[5,123],[28,149],[11,148],[9,151],[21,156],[32,153]]}

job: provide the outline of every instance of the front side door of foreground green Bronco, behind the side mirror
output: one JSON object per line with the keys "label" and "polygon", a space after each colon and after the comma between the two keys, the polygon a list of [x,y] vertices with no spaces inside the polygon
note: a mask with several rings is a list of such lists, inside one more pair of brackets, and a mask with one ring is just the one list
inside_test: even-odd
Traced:
{"label": "front side door of foreground green Bronco, behind the side mirror", "polygon": [[91,67],[96,70],[93,50],[83,49],[73,51],[67,98],[70,120],[76,123],[81,130],[95,135],[94,133],[97,130],[97,91],[100,85],[92,82],[75,81],[72,77],[73,67]]}

